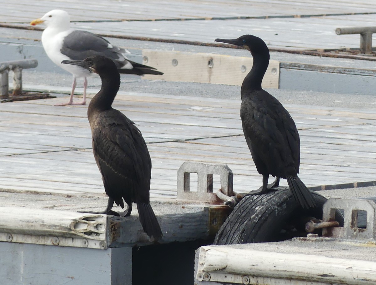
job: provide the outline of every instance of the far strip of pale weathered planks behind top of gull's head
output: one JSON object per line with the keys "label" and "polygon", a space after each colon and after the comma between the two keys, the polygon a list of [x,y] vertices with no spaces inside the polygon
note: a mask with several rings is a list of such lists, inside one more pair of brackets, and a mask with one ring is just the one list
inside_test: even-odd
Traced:
{"label": "far strip of pale weathered planks behind top of gull's head", "polygon": [[[160,19],[210,19],[231,17],[299,17],[299,15],[344,14],[374,12],[371,3],[357,1],[187,1],[154,2],[151,0],[113,2],[36,1],[34,5],[27,1],[17,3],[0,2],[3,9],[0,15],[7,22],[30,22],[30,18],[41,17],[49,8],[60,7],[67,10],[73,21],[90,20],[160,20]],[[265,6],[268,9],[265,9]],[[27,11],[27,13],[20,13]],[[84,13],[82,11],[85,11]]]}

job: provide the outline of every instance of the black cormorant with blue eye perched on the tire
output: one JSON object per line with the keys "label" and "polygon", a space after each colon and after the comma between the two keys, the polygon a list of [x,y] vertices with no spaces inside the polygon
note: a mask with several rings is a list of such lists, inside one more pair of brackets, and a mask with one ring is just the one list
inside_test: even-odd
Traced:
{"label": "black cormorant with blue eye perched on the tire", "polygon": [[[294,120],[282,104],[261,88],[262,78],[269,65],[269,49],[265,42],[253,35],[237,39],[215,39],[216,42],[237,45],[249,50],[253,65],[241,85],[240,117],[262,187],[250,194],[262,194],[287,179],[294,198],[303,206],[315,206],[314,198],[299,179],[300,139]],[[268,185],[269,175],[276,180]]]}

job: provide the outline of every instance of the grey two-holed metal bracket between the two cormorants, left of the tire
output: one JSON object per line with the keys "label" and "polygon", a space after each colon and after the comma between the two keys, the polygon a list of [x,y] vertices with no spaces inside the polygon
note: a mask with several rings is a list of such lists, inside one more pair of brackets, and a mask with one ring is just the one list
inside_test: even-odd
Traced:
{"label": "grey two-holed metal bracket between the two cormorants, left of the tire", "polygon": [[[190,173],[197,173],[197,192],[190,190]],[[203,164],[184,162],[177,170],[177,199],[209,202],[222,204],[213,189],[213,174],[219,174],[221,180],[221,192],[227,196],[233,196],[233,174],[225,164]]]}

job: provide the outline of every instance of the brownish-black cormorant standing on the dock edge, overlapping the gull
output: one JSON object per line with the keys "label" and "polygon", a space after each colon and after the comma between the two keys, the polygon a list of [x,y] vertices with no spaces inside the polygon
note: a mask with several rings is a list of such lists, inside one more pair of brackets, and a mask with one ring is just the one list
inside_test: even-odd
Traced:
{"label": "brownish-black cormorant standing on the dock edge, overlapping the gull", "polygon": [[123,113],[112,108],[120,86],[120,74],[114,61],[105,56],[91,56],[83,61],[62,61],[99,74],[102,88],[91,99],[88,119],[91,127],[94,158],[102,173],[108,205],[101,214],[119,215],[112,211],[114,202],[129,216],[132,202],[137,204],[144,231],[155,239],[162,231],[150,205],[152,161],[140,130]]}

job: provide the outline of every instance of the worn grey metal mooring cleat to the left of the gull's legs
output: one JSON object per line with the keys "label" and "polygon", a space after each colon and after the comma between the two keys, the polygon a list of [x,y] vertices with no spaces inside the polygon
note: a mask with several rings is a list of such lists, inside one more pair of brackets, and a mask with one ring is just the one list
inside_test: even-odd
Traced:
{"label": "worn grey metal mooring cleat to the left of the gull's legs", "polygon": [[20,61],[0,62],[1,86],[0,96],[9,96],[9,70],[13,71],[13,95],[22,94],[22,70],[23,68],[34,68],[38,66],[36,59],[23,59]]}

